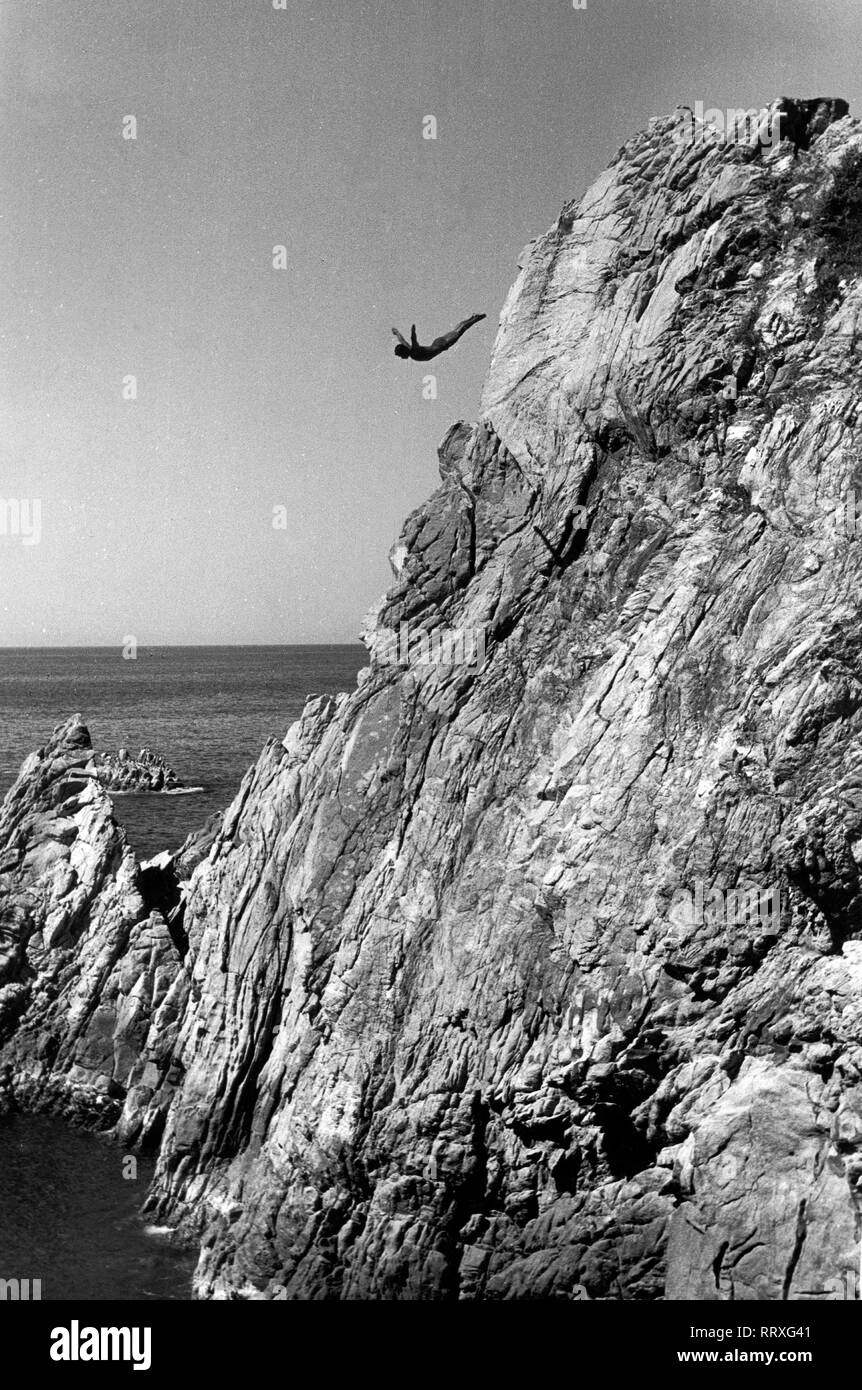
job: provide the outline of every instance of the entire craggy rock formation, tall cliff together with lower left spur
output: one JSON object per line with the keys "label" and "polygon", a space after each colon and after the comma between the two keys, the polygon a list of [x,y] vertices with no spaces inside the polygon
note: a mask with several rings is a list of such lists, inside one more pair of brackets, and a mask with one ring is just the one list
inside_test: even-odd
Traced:
{"label": "entire craggy rock formation, tall cliff together with lower left spur", "polygon": [[371,666],[246,776],[185,944],[76,726],[7,798],[0,1056],[164,1126],[204,1297],[852,1297],[862,126],[783,110],[651,122],[527,247]]}

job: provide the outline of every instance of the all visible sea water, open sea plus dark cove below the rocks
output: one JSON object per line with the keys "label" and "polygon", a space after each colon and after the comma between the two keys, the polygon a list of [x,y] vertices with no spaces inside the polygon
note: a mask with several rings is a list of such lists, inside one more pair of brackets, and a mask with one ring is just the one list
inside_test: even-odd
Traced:
{"label": "all visible sea water, open sea plus dark cove below the rocks", "polygon": [[[118,796],[139,858],[174,849],[234,798],[270,737],[306,695],[349,691],[361,646],[0,649],[0,795],[24,758],[81,713],[104,752],[147,745],[185,796]],[[190,1298],[195,1257],[140,1207],[152,1163],[44,1116],[0,1120],[0,1279],[36,1282],[43,1301]]]}

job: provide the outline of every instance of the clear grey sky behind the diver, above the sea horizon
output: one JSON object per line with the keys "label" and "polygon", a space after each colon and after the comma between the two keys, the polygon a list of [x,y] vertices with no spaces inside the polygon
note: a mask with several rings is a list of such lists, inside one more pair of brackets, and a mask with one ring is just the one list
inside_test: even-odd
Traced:
{"label": "clear grey sky behind the diver, above the sea horizon", "polygon": [[521,247],[678,103],[862,113],[861,39],[861,0],[0,0],[0,646],[356,641]]}

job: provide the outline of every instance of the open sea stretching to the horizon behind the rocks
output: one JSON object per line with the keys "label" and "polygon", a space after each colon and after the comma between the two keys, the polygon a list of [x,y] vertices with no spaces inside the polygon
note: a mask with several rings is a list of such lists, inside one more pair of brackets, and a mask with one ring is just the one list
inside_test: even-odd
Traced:
{"label": "open sea stretching to the horizon behind the rocks", "polygon": [[363,646],[0,648],[0,796],[57,724],[82,714],[100,752],[149,746],[190,795],[117,796],[145,859],[178,849],[224,810],[268,738],[284,738],[307,695],[356,685]]}

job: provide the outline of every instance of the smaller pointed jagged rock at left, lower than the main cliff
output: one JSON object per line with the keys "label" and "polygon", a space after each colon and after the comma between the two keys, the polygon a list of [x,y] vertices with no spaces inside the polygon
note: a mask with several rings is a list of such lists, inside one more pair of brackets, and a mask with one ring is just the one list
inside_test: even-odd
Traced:
{"label": "smaller pointed jagged rock at left, lower than the main cliff", "polygon": [[[79,716],[31,755],[0,808],[4,1098],[158,1133],[186,980],[113,817]],[[131,1102],[129,1102],[131,1104]]]}

